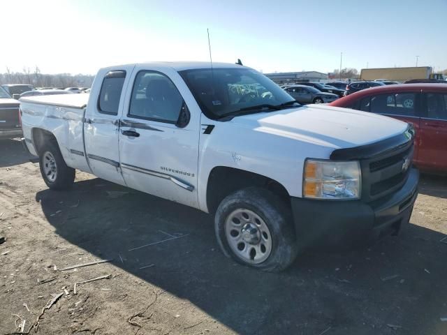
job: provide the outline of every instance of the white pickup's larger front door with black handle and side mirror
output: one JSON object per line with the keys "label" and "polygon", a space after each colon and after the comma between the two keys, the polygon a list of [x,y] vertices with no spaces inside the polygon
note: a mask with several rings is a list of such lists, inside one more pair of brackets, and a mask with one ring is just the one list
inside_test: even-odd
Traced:
{"label": "white pickup's larger front door with black handle and side mirror", "polygon": [[189,113],[191,92],[173,69],[135,68],[132,82],[119,133],[126,184],[198,207],[200,114]]}

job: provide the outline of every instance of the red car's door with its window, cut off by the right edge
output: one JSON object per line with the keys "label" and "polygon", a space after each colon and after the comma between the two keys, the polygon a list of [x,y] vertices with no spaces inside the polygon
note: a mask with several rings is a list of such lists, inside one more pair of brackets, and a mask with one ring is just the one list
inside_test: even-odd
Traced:
{"label": "red car's door with its window, cut off by the right edge", "polygon": [[447,171],[447,94],[423,93],[420,119],[420,166]]}

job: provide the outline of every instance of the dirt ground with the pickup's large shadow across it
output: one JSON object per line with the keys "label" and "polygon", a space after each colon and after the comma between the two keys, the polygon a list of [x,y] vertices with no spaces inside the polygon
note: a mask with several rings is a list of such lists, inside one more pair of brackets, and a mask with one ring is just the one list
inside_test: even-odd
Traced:
{"label": "dirt ground with the pickup's large shadow across it", "polygon": [[421,178],[398,237],[268,274],[225,258],[200,211],[81,172],[49,191],[28,158],[0,142],[0,334],[447,334],[446,177]]}

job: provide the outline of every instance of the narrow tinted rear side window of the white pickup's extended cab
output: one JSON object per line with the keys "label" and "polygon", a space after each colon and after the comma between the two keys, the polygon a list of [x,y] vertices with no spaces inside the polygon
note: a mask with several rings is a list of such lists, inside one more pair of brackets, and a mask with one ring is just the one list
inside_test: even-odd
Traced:
{"label": "narrow tinted rear side window of the white pickup's extended cab", "polygon": [[100,113],[118,114],[119,99],[121,98],[124,79],[126,79],[126,71],[124,70],[110,71],[105,75],[98,100]]}

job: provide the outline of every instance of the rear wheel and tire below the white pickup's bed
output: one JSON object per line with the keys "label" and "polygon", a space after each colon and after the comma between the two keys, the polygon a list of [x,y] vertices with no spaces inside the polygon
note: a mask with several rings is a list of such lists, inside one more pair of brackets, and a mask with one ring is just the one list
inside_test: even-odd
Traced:
{"label": "rear wheel and tire below the white pickup's bed", "polygon": [[39,150],[39,166],[43,181],[52,190],[66,190],[73,185],[75,169],[66,165],[54,142],[47,141]]}

